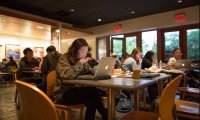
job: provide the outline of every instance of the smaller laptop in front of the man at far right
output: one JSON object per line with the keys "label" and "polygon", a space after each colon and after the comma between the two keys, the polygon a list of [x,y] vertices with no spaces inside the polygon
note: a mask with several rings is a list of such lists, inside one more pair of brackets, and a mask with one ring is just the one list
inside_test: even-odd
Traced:
{"label": "smaller laptop in front of the man at far right", "polygon": [[191,68],[190,60],[176,60],[175,68],[176,69],[190,69]]}

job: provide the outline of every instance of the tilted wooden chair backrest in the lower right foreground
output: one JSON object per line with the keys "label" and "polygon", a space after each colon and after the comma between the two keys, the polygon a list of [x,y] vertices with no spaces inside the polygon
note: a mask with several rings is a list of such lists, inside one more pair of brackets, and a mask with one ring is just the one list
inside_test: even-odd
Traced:
{"label": "tilted wooden chair backrest in the lower right foreground", "polygon": [[161,120],[173,120],[172,108],[175,105],[176,90],[182,79],[182,75],[177,76],[166,86],[160,97],[159,114]]}

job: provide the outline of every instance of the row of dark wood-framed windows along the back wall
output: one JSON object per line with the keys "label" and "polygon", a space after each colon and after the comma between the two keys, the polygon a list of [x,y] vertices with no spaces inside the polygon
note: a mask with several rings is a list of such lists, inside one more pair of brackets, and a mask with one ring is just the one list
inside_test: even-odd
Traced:
{"label": "row of dark wood-framed windows along the back wall", "polygon": [[[107,53],[116,52],[120,57],[122,53],[131,54],[134,48],[141,47],[143,56],[147,51],[153,50],[155,58],[166,63],[170,57],[174,56],[174,49],[180,47],[183,59],[197,62],[200,60],[199,34],[199,24],[190,24],[107,36],[107,38],[110,37],[110,42],[104,43],[101,51],[105,53],[106,49]],[[109,54],[106,55],[109,56]]]}

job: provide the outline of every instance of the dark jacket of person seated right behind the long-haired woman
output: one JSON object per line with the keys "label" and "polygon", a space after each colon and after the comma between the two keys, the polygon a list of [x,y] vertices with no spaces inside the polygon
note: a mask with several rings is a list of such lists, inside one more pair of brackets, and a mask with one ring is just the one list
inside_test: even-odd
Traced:
{"label": "dark jacket of person seated right behind the long-haired woman", "polygon": [[46,55],[42,62],[41,72],[44,75],[44,79],[46,80],[47,74],[53,70],[56,70],[56,66],[58,64],[58,60],[61,54],[57,51],[52,54]]}

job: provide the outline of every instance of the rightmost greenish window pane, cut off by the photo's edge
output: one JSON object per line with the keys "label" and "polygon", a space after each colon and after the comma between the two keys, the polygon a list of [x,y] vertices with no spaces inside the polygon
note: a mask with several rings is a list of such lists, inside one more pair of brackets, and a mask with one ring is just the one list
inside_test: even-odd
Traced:
{"label": "rightmost greenish window pane, cut off by the photo's edge", "polygon": [[199,60],[199,29],[187,30],[187,59]]}

